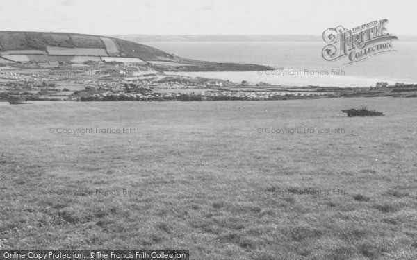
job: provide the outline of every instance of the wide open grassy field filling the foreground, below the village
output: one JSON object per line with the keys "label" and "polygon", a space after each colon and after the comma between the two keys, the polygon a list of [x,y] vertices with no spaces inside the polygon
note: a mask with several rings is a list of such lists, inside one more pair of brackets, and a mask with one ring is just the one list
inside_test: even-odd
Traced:
{"label": "wide open grassy field filling the foreground, below the village", "polygon": [[[363,104],[386,116],[341,112]],[[0,111],[1,249],[417,259],[416,98]]]}

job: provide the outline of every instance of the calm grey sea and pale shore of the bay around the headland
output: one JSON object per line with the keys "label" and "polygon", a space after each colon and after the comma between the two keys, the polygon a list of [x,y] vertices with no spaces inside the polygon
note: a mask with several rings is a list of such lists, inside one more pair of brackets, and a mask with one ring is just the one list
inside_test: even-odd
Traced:
{"label": "calm grey sea and pale shore of the bay around the headland", "polygon": [[282,86],[373,87],[377,82],[417,83],[417,42],[393,40],[393,51],[361,62],[347,57],[322,58],[325,42],[141,42],[167,53],[195,60],[265,64],[272,71],[170,72],[250,84]]}

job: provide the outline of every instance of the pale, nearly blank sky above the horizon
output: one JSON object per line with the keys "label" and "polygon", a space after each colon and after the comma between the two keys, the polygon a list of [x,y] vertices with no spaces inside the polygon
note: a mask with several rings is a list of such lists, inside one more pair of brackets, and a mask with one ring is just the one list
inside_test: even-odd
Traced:
{"label": "pale, nearly blank sky above the horizon", "polygon": [[322,35],[388,19],[417,35],[415,0],[1,0],[0,31],[93,35]]}

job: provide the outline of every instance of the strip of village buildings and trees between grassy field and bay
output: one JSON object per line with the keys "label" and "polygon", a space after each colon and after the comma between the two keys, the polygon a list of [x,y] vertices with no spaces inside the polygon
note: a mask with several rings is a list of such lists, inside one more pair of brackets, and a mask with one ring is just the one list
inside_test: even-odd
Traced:
{"label": "strip of village buildings and trees between grassy field and bay", "polygon": [[[404,96],[414,85],[366,88],[282,87],[172,76],[144,64],[3,64],[0,101],[272,101],[349,96]],[[405,92],[405,94],[403,93]],[[410,93],[409,93],[410,94]],[[412,93],[411,93],[412,94]]]}

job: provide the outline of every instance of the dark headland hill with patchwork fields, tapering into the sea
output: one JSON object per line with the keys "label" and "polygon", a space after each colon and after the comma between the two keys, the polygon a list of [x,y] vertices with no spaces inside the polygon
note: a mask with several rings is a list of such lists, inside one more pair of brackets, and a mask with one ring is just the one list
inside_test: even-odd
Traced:
{"label": "dark headland hill with patchwork fields, tapering into the sea", "polygon": [[255,64],[190,60],[129,40],[76,33],[0,31],[0,63],[122,62],[143,63],[163,71],[250,71]]}

